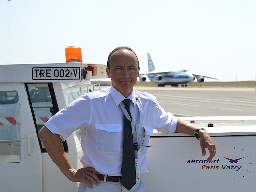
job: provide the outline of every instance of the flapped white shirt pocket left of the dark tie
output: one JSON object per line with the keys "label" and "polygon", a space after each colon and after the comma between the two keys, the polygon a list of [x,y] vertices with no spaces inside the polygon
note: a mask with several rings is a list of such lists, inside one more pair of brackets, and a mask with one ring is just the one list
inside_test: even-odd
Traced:
{"label": "flapped white shirt pocket left of the dark tie", "polygon": [[96,150],[101,153],[118,153],[121,145],[120,124],[95,124],[97,131]]}

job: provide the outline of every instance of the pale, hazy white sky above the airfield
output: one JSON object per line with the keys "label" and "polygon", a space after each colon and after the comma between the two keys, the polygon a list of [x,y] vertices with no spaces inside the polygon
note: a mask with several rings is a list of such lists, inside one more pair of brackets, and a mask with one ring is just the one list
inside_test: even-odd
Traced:
{"label": "pale, hazy white sky above the airfield", "polygon": [[255,0],[0,0],[0,27],[0,63],[62,63],[75,45],[106,64],[128,46],[141,72],[148,52],[156,69],[255,80]]}

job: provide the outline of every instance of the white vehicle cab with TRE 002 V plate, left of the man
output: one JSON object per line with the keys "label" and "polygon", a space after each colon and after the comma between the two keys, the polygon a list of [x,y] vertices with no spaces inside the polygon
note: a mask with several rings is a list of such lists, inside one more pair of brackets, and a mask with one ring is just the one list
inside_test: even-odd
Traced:
{"label": "white vehicle cab with TRE 002 V plate, left of the man", "polygon": [[[100,89],[90,78],[107,78],[105,69],[74,55],[66,63],[0,64],[0,191],[77,191],[78,183],[68,182],[37,133],[59,109]],[[79,130],[63,146],[71,164],[81,168]]]}

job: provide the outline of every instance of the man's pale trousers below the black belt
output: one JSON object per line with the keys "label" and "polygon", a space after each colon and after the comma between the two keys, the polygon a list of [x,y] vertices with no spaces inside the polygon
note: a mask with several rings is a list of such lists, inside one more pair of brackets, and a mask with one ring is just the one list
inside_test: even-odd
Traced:
{"label": "man's pale trousers below the black belt", "polygon": [[[80,182],[78,192],[124,192],[128,191],[121,183],[111,181],[101,181],[100,185],[97,186],[91,183],[93,189],[89,188],[84,182]],[[147,192],[148,188],[140,181],[136,183],[129,192]]]}

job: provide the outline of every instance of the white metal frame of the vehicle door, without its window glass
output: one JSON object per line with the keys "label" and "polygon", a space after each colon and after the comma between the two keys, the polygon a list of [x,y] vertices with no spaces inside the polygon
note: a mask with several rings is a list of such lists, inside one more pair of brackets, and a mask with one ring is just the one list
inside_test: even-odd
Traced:
{"label": "white metal frame of the vehicle door, without its window glass", "polygon": [[[4,173],[0,174],[1,190],[42,192],[42,156],[24,85],[21,83],[1,84],[1,90],[17,91],[21,104],[20,162],[0,163],[1,173]],[[8,140],[1,141],[2,144],[4,142],[11,146]]]}

